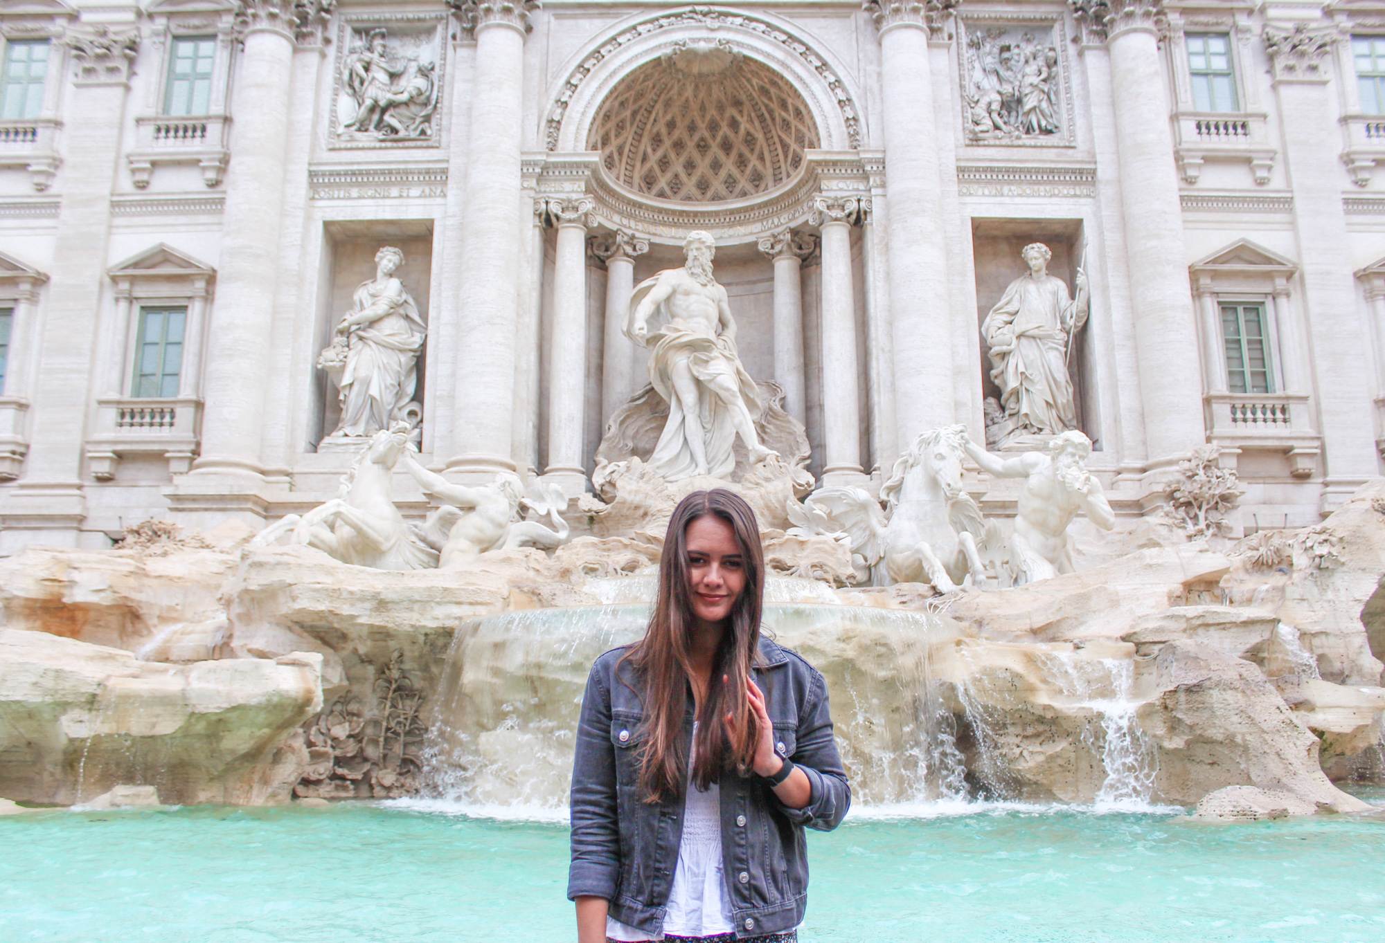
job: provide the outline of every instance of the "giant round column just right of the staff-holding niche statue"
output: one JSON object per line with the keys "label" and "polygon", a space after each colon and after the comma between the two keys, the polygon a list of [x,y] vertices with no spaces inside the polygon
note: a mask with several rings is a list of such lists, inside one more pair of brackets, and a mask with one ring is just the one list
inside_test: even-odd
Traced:
{"label": "giant round column just right of the staff-holding niche statue", "polygon": [[1162,0],[1072,0],[1089,43],[1111,64],[1120,207],[1140,364],[1148,467],[1172,467],[1206,441],[1201,354],[1163,58]]}

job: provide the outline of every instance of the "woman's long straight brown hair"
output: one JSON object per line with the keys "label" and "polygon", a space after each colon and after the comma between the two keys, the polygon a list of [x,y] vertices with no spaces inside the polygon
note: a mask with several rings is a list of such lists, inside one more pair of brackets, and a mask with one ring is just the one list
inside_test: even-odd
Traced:
{"label": "woman's long straight brown hair", "polygon": [[[688,586],[687,530],[698,517],[720,517],[735,532],[741,548],[745,589],[731,607],[722,642],[712,660],[712,676],[698,711],[697,762],[692,781],[706,790],[726,769],[745,776],[755,759],[759,730],[747,694],[747,676],[759,655],[760,611],[765,589],[765,553],[755,512],[745,499],[726,488],[694,491],[679,502],[669,519],[659,560],[659,595],[644,637],[630,646],[616,662],[629,661],[643,683],[644,745],[640,765],[640,792],[645,802],[659,802],[665,794],[680,795],[687,777],[686,760],[677,749],[683,731],[687,686],[692,676],[690,658],[692,629]],[[726,683],[722,682],[726,675]],[[632,689],[633,690],[633,689]],[[722,722],[733,716],[737,734],[729,737]]]}

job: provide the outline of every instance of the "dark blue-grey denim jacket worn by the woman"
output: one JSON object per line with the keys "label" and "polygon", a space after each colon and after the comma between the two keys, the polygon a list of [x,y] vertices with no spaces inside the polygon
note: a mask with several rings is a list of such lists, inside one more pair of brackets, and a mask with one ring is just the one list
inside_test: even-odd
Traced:
{"label": "dark blue-grey denim jacket worn by the woman", "polygon": [[[683,837],[684,796],[640,801],[638,747],[644,707],[629,662],[615,664],[625,647],[591,665],[578,720],[572,763],[572,866],[568,899],[605,897],[608,913],[651,936],[663,928],[673,868]],[[722,855],[726,895],[737,936],[778,933],[798,926],[807,906],[807,848],[803,827],[831,831],[846,816],[846,783],[823,676],[798,653],[760,636],[760,661],[752,668],[766,694],[774,747],[803,770],[812,798],[802,809],[780,802],[753,774],[723,773]],[[681,755],[692,737],[692,694],[683,718]],[[691,787],[695,788],[695,787]]]}

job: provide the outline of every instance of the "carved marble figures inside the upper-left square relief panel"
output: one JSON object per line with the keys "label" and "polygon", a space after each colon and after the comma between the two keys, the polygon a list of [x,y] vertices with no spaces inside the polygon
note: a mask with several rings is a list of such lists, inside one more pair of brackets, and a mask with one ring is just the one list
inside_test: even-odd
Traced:
{"label": "carved marble figures inside the upper-left square relief panel", "polygon": [[343,62],[342,86],[356,105],[343,131],[379,140],[432,137],[438,82],[432,62],[391,53],[388,33],[373,29]]}

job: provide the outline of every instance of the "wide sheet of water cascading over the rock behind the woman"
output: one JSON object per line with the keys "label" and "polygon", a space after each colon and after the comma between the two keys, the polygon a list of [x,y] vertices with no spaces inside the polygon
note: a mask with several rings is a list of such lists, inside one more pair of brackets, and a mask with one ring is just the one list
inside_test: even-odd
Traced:
{"label": "wide sheet of water cascading over the rock behind the woman", "polygon": [[[463,624],[424,751],[425,796],[485,814],[562,814],[587,669],[607,648],[638,639],[647,619],[648,604],[623,603]],[[766,632],[828,679],[855,805],[965,795],[953,718],[928,669],[938,626],[929,613],[841,603],[765,607]]]}

